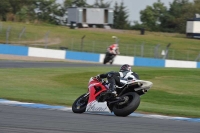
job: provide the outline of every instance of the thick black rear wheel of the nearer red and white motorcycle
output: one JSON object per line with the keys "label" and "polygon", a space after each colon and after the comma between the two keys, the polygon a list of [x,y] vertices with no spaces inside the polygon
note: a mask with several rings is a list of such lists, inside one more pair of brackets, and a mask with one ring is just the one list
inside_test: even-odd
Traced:
{"label": "thick black rear wheel of the nearer red and white motorcycle", "polygon": [[113,112],[116,116],[126,117],[140,105],[140,96],[136,92],[125,93],[121,98],[124,98],[125,101],[116,103],[113,107]]}

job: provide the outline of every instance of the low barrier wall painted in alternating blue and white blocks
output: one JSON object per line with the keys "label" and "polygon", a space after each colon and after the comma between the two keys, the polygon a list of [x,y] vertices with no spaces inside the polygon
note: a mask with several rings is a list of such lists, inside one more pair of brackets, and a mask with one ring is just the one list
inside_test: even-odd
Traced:
{"label": "low barrier wall painted in alternating blue and white blocks", "polygon": [[[76,52],[69,50],[53,50],[45,48],[34,48],[26,46],[0,44],[0,54],[31,56],[31,57],[46,57],[54,59],[79,60],[88,62],[103,63],[105,54]],[[200,68],[200,62],[195,61],[180,61],[180,60],[163,60],[154,58],[142,58],[121,56],[115,57],[113,62],[115,65],[129,64],[133,66],[144,67],[175,67],[175,68]]]}

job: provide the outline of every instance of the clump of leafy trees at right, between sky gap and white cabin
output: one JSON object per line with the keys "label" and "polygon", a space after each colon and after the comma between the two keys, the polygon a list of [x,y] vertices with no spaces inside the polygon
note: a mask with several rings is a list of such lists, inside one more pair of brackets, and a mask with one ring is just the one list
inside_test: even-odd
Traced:
{"label": "clump of leafy trees at right, between sky gap and white cabin", "polygon": [[167,8],[160,0],[140,11],[142,24],[135,22],[134,28],[151,31],[185,33],[186,22],[200,14],[200,1],[174,0]]}

